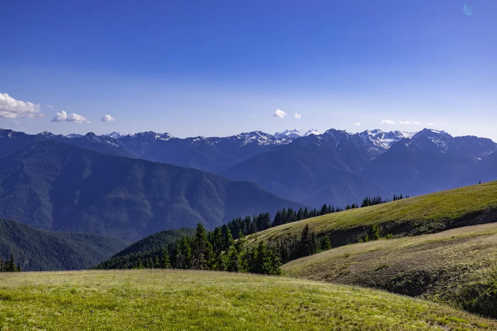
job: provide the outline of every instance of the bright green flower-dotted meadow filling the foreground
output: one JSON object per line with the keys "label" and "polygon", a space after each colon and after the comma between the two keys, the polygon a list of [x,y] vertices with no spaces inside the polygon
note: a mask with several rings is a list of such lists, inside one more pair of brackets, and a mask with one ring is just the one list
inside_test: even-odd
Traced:
{"label": "bright green flower-dotted meadow filling the foreground", "polygon": [[208,271],[1,274],[5,330],[496,330],[497,322],[386,292]]}

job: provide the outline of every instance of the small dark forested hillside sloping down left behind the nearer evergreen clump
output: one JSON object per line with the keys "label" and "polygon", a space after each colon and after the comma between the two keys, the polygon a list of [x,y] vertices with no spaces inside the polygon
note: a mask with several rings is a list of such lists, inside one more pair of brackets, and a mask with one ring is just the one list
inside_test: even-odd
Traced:
{"label": "small dark forested hillside sloping down left behind the nearer evergreen clump", "polygon": [[96,269],[118,269],[123,265],[136,265],[138,259],[147,261],[148,258],[160,256],[163,247],[168,247],[181,239],[183,235],[193,236],[194,228],[181,228],[160,231],[126,247],[112,258],[95,266]]}

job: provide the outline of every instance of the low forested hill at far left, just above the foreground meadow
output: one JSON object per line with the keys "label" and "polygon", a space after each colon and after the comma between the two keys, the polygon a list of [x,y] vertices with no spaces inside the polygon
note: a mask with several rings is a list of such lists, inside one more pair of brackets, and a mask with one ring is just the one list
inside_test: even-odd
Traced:
{"label": "low forested hill at far left, just above the foreground meadow", "polygon": [[22,270],[86,269],[126,245],[116,237],[45,231],[0,219],[0,256],[5,260],[13,253]]}

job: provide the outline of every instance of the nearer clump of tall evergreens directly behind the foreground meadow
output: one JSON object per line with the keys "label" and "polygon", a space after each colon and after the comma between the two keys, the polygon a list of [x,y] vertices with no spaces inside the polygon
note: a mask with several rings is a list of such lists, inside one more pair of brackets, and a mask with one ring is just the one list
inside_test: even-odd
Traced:
{"label": "nearer clump of tall evergreens directly behind the foreground meadow", "polygon": [[[198,223],[194,236],[184,235],[168,247],[163,246],[156,253],[145,252],[135,262],[114,265],[117,268],[177,268],[205,269],[232,272],[252,272],[277,275],[280,266],[288,261],[330,249],[330,239],[319,241],[316,233],[306,224],[300,236],[286,238],[272,245],[263,240],[252,248],[246,248],[246,237],[239,232],[235,241],[229,227],[223,233],[222,227],[207,232]],[[105,266],[102,265],[101,268]]]}

